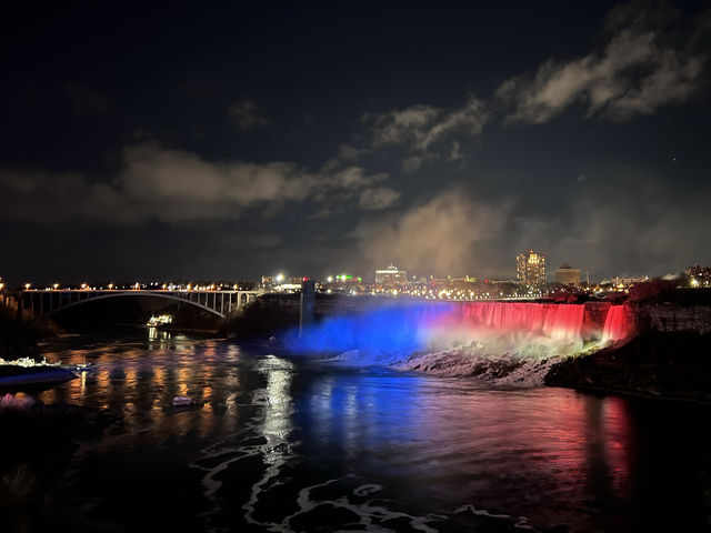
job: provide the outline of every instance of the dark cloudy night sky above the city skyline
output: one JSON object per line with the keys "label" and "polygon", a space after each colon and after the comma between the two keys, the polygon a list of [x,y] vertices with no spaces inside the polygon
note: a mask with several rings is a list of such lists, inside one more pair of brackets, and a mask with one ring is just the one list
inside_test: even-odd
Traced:
{"label": "dark cloudy night sky above the city skyline", "polygon": [[0,276],[711,263],[708,3],[260,6],[3,14]]}

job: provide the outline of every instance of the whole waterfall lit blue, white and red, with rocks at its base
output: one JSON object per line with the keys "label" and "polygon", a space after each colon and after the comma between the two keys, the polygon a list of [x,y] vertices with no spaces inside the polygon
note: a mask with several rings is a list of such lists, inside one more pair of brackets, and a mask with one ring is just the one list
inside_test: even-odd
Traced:
{"label": "whole waterfall lit blue, white and red, with rocks at its base", "polygon": [[629,338],[633,325],[622,305],[601,302],[390,302],[327,319],[302,338],[288,332],[284,341],[294,352],[339,353],[329,361],[348,365],[538,386],[551,365],[581,353],[584,342]]}

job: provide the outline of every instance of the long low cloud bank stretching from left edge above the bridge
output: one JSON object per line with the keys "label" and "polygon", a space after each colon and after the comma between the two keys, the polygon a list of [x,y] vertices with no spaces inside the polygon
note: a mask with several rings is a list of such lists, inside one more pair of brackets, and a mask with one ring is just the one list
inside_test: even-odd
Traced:
{"label": "long low cloud bank stretching from left edge above the bridge", "polygon": [[251,208],[278,211],[291,203],[349,199],[359,199],[363,209],[382,209],[399,197],[391,188],[372,188],[387,178],[360,167],[309,172],[291,162],[207,161],[144,143],[123,150],[123,167],[109,183],[79,173],[1,170],[0,195],[8,208],[0,218],[119,224],[156,219],[174,224],[239,219]]}

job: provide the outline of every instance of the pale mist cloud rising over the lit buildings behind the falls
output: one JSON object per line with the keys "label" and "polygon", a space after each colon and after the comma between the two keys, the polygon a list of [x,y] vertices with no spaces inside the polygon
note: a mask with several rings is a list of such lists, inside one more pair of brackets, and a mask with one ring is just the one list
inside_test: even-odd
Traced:
{"label": "pale mist cloud rising over the lit buildings behind the falls", "polygon": [[687,194],[649,172],[619,168],[600,173],[609,183],[545,211],[455,188],[397,213],[371,217],[351,233],[358,257],[349,264],[371,273],[392,262],[419,275],[509,279],[515,276],[515,255],[533,249],[548,254],[550,280],[563,262],[600,280],[664,275],[711,262],[710,218],[703,207],[711,195],[708,187]]}

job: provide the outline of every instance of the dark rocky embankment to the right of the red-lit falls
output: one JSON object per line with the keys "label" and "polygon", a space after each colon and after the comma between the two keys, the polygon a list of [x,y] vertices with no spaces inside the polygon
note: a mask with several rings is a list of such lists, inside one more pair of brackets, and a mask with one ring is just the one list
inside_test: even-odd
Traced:
{"label": "dark rocky embankment to the right of the red-lit falls", "polygon": [[711,402],[709,291],[673,291],[620,306],[634,334],[554,364],[548,385]]}

